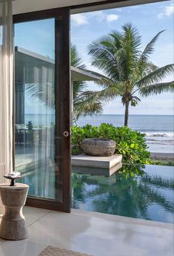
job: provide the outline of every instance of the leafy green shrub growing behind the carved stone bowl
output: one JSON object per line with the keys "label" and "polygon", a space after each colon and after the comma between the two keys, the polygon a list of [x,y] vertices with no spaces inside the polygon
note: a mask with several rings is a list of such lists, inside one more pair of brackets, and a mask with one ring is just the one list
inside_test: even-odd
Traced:
{"label": "leafy green shrub growing behind the carved stone bowl", "polygon": [[[133,131],[127,126],[115,127],[102,123],[100,126],[85,125],[72,127],[72,145],[78,154],[82,153],[81,141],[85,138],[107,138],[116,142],[115,154],[122,154],[124,163],[150,163],[145,134]],[[74,151],[72,154],[74,154]]]}

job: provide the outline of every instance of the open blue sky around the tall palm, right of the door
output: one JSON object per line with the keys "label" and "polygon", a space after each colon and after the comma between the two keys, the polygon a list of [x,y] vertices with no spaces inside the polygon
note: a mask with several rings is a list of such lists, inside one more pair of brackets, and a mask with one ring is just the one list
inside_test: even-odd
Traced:
{"label": "open blue sky around the tall palm, right of the door", "polygon": [[[156,33],[165,30],[155,45],[151,61],[161,67],[173,63],[173,1],[155,4],[143,4],[93,13],[81,13],[71,16],[71,41],[90,70],[101,72],[90,65],[87,45],[112,30],[121,30],[121,26],[131,22],[142,36],[142,49],[153,39]],[[165,80],[170,81],[173,76]],[[90,89],[98,89],[93,82]],[[124,114],[121,99],[116,98],[104,107],[104,114]],[[130,107],[130,114],[173,114],[173,94],[163,93],[141,99],[141,103]]]}

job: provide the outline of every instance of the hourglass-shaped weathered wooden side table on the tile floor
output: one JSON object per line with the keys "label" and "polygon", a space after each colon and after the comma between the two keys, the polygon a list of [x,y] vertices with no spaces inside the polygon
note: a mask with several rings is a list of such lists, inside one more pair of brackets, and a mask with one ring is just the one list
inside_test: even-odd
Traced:
{"label": "hourglass-shaped weathered wooden side table on the tile floor", "polygon": [[0,237],[7,240],[21,240],[28,237],[22,208],[27,198],[29,186],[16,183],[16,186],[0,184],[4,215],[1,219]]}

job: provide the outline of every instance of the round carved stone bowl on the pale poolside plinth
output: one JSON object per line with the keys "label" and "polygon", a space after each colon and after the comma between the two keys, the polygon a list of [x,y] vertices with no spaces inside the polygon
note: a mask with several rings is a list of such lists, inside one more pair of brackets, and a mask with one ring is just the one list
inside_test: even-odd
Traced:
{"label": "round carved stone bowl on the pale poolside plinth", "polygon": [[110,139],[84,139],[81,142],[84,154],[95,157],[110,157],[116,150],[116,142]]}

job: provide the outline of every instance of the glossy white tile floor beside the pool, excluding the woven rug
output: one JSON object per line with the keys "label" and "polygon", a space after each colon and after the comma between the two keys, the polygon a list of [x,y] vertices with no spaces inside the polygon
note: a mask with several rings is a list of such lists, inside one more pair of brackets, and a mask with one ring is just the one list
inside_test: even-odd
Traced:
{"label": "glossy white tile floor beside the pool, excluding the woven rug", "polygon": [[0,239],[0,256],[38,256],[48,245],[94,256],[172,256],[173,225],[72,210],[24,208],[29,237]]}

